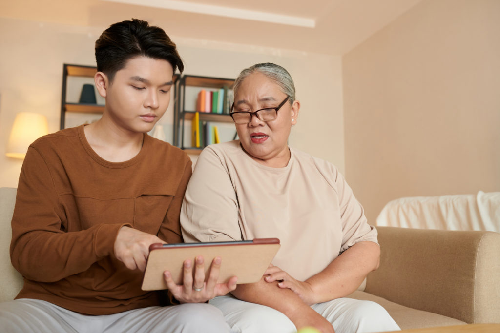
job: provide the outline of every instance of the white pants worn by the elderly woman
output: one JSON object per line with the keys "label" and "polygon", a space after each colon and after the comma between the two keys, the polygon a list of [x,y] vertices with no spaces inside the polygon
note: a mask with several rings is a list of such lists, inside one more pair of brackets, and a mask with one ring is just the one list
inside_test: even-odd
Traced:
{"label": "white pants worn by the elderly woman", "polygon": [[[272,308],[243,302],[232,296],[210,301],[224,314],[231,333],[292,333],[293,323]],[[399,331],[399,326],[380,305],[370,301],[340,298],[311,306],[333,325],[337,333]]]}

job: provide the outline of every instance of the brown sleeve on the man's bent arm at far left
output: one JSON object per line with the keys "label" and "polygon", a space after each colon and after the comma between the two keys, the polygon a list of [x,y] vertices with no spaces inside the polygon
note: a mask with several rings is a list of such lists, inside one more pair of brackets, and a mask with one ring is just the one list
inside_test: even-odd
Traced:
{"label": "brown sleeve on the man's bent arm at far left", "polygon": [[19,175],[10,243],[12,265],[25,278],[55,282],[87,270],[114,253],[118,230],[127,225],[67,232],[64,221],[47,163],[30,146]]}

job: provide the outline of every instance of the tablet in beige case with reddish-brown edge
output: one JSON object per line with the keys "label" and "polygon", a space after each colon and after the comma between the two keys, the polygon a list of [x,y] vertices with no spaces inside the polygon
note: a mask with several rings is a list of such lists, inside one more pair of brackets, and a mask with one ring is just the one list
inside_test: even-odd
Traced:
{"label": "tablet in beige case with reddish-brown edge", "polygon": [[[220,257],[217,283],[226,283],[233,276],[238,277],[238,284],[255,283],[260,280],[265,270],[279,250],[277,238],[256,238],[253,241],[211,242],[211,243],[176,243],[151,244],[147,258],[142,290],[167,289],[163,272],[169,271],[173,281],[182,284],[183,263],[203,256],[205,281],[208,279],[210,265],[215,257]],[[194,272],[194,269],[193,269]]]}

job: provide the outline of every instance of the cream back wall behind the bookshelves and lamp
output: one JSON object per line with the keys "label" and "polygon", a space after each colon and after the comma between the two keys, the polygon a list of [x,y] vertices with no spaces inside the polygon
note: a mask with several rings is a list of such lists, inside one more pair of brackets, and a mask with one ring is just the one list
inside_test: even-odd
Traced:
{"label": "cream back wall behind the bookshelves and lamp", "polygon": [[[123,19],[130,17],[126,15]],[[152,23],[163,26],[161,21]],[[94,65],[93,44],[105,27],[0,17],[0,186],[17,186],[22,163],[4,154],[15,113],[43,114],[49,130],[58,130],[62,64]],[[244,67],[264,61],[288,69],[302,103],[290,145],[343,171],[340,56],[171,37],[185,61],[186,74],[234,78]],[[170,110],[160,121],[171,128],[172,120]]]}

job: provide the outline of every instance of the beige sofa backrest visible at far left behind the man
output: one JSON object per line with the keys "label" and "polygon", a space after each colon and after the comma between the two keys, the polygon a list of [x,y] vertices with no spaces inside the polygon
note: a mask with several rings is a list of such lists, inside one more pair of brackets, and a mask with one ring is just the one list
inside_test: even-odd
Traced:
{"label": "beige sofa backrest visible at far left behind the man", "polygon": [[0,302],[13,300],[23,284],[22,276],[10,263],[9,252],[15,193],[15,188],[0,188]]}

